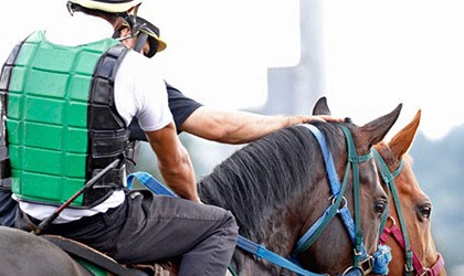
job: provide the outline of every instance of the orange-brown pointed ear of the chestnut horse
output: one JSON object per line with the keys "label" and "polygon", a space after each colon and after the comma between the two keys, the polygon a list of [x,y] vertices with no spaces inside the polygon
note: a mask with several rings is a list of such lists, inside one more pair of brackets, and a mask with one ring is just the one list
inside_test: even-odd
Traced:
{"label": "orange-brown pointed ear of the chestnut horse", "polygon": [[421,109],[418,110],[411,123],[409,123],[389,141],[388,146],[398,159],[400,159],[405,152],[408,152],[409,148],[411,147],[412,141],[414,140],[415,134],[418,131],[420,121]]}

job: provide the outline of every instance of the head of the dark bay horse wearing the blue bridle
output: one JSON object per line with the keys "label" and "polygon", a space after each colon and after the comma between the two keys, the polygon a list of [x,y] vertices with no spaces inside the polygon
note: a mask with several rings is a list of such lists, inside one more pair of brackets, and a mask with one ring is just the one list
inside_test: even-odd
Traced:
{"label": "head of the dark bay horse wearing the blue bridle", "polygon": [[[317,127],[325,132],[328,139],[340,182],[345,177],[347,178],[348,184],[346,187],[346,200],[344,200],[344,204],[349,209],[355,222],[357,220],[360,221],[360,232],[358,234],[361,234],[360,238],[362,238],[367,254],[373,254],[377,251],[380,219],[388,203],[387,194],[380,185],[375,160],[367,158],[367,156],[370,153],[371,147],[381,141],[393,126],[400,110],[401,105],[391,113],[363,126],[357,126],[348,121],[342,124],[317,124]],[[317,102],[313,114],[330,115],[325,98]],[[348,142],[340,125],[348,128],[352,136],[355,151],[358,158],[352,157],[351,153],[350,159],[360,159],[355,160],[358,161],[359,170],[349,170],[348,174],[346,174],[347,167],[350,166],[347,152]],[[359,192],[354,190],[354,181],[357,178],[359,178]],[[318,184],[317,187],[327,187],[326,176],[321,174],[319,181],[326,183]],[[327,204],[327,198],[329,195],[327,194],[327,190],[318,194],[321,197],[318,197],[319,202],[317,204]],[[356,197],[359,198],[356,199]],[[356,201],[359,202],[359,206],[356,206]],[[359,213],[355,212],[355,210]],[[314,216],[320,216],[320,213],[313,212],[312,216],[308,217],[308,222],[314,222]],[[339,274],[347,269],[347,267],[354,265],[354,243],[342,224],[344,222],[339,217],[331,220],[327,229],[320,234],[320,237],[305,252],[299,253],[298,261],[304,267],[320,273]],[[310,226],[310,223],[303,227],[302,234],[304,234],[308,226]],[[333,250],[328,251],[327,248]],[[356,251],[359,251],[359,248]]]}

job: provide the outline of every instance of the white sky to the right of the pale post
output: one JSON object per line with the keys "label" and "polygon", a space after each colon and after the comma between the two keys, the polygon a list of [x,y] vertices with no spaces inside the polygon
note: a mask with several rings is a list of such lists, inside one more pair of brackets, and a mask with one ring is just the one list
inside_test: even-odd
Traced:
{"label": "white sky to the right of the pale post", "polygon": [[334,109],[350,103],[346,108],[357,105],[378,114],[401,102],[401,123],[421,108],[420,130],[431,139],[461,126],[463,14],[460,0],[325,1],[327,92],[337,95]]}

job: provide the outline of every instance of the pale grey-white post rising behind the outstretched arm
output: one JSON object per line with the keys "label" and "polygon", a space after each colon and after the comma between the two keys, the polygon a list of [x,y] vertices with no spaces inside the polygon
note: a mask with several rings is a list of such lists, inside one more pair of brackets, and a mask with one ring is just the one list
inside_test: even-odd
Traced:
{"label": "pale grey-white post rising behind the outstretched arm", "polygon": [[267,70],[263,114],[309,114],[324,93],[323,0],[299,1],[300,60],[293,67]]}

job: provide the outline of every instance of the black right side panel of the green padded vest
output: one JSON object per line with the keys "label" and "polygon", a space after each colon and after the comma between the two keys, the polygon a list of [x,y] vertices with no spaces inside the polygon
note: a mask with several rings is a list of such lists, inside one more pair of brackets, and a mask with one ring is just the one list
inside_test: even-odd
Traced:
{"label": "black right side panel of the green padded vest", "polygon": [[[95,67],[87,109],[89,156],[86,161],[86,179],[92,179],[116,159],[125,163],[125,150],[129,141],[129,128],[118,114],[115,103],[117,70],[129,49],[116,44],[108,49]],[[84,192],[83,205],[92,206],[106,200],[115,189],[123,188],[124,167],[109,171]]]}

